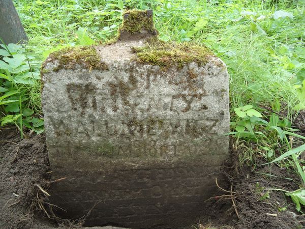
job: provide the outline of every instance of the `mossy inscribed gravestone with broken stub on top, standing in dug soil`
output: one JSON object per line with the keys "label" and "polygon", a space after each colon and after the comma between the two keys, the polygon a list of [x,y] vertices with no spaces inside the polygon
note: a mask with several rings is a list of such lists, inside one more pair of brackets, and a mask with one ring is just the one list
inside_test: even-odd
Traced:
{"label": "mossy inscribed gravestone with broken stub on top, standing in dug soil", "polygon": [[128,11],[111,44],[66,48],[42,68],[52,203],[86,226],[196,222],[228,157],[225,64],[159,41],[151,11]]}

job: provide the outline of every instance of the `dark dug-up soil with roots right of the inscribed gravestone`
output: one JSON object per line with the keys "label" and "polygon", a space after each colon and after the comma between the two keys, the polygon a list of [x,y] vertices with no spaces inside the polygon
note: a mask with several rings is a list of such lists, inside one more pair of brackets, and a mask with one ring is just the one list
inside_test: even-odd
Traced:
{"label": "dark dug-up soil with roots right of the inscribed gravestone", "polygon": [[[262,158],[254,159],[252,164],[257,164],[255,168],[246,164],[240,166],[239,154],[242,152],[231,149],[231,159],[224,166],[224,173],[232,185],[233,196],[223,196],[231,193],[220,190],[217,196],[208,201],[210,220],[202,220],[201,224],[236,229],[305,228],[305,215],[296,211],[289,197],[281,191],[264,190],[278,188],[294,191],[299,189],[300,178],[277,165],[259,166],[265,163]],[[231,191],[231,187],[226,187],[225,184],[219,186]]]}

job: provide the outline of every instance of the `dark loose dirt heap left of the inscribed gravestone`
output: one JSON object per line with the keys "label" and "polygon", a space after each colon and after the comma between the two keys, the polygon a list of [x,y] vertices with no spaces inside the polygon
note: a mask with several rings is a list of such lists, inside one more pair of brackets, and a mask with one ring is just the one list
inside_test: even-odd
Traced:
{"label": "dark loose dirt heap left of the inscribed gravestone", "polygon": [[15,127],[1,128],[0,149],[0,228],[49,228],[35,214],[49,171],[45,136],[20,139]]}

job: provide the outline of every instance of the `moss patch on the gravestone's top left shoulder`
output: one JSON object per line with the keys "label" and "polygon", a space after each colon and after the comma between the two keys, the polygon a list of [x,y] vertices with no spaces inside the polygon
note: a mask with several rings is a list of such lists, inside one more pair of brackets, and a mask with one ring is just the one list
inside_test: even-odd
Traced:
{"label": "moss patch on the gravestone's top left shoulder", "polygon": [[59,69],[72,69],[76,64],[84,65],[89,70],[108,70],[108,65],[103,62],[93,46],[67,47],[50,54],[52,60],[58,60]]}

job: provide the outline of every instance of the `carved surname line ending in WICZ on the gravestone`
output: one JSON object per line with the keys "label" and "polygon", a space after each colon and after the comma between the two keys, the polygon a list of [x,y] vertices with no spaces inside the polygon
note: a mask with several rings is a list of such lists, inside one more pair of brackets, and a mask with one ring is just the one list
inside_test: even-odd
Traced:
{"label": "carved surname line ending in WICZ on the gravestone", "polygon": [[[70,117],[71,118],[71,117]],[[68,118],[69,119],[69,118]],[[58,135],[72,134],[72,119],[65,122],[52,122],[57,129]],[[73,132],[75,137],[93,139],[97,136],[141,138],[157,136],[162,139],[175,138],[200,138],[206,135],[215,134],[220,120],[161,120],[148,119],[137,120],[90,120],[89,123],[79,122]]]}

